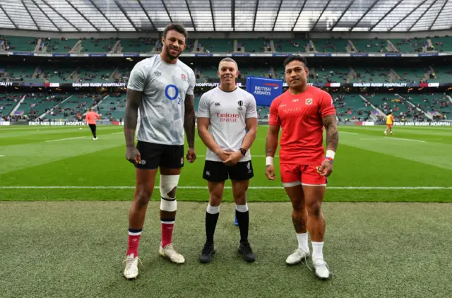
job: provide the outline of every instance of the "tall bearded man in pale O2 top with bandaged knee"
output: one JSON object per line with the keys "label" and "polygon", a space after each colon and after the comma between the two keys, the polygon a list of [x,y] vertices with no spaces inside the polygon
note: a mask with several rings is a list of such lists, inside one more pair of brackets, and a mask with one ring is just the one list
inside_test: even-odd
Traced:
{"label": "tall bearded man in pale O2 top with bandaged knee", "polygon": [[[194,162],[195,113],[194,72],[178,59],[186,47],[187,32],[170,24],[162,36],[162,52],[144,59],[131,71],[127,85],[124,134],[126,159],[136,167],[136,188],[129,210],[129,246],[124,276],[138,275],[138,242],[146,208],[160,167],[160,220],[162,240],[159,253],[174,263],[184,263],[172,244],[176,217],[176,188],[184,166],[184,130],[189,143],[186,158]],[[141,123],[135,146],[138,107]]]}

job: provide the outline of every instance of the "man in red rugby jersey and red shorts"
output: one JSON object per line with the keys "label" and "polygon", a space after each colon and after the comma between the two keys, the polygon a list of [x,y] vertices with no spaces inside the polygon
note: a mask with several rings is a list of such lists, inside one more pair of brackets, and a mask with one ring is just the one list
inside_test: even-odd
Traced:
{"label": "man in red rugby jersey and red shorts", "polygon": [[[266,176],[275,180],[273,157],[280,140],[281,181],[292,201],[292,222],[298,249],[287,257],[295,264],[310,256],[308,234],[311,235],[312,262],[319,278],[330,277],[323,260],[325,217],[321,203],[326,191],[326,177],[333,172],[335,150],[338,148],[338,127],[331,95],[307,85],[309,68],[302,56],[290,56],[285,62],[288,90],[270,105],[266,141]],[[326,155],[323,148],[323,126],[326,129]]]}

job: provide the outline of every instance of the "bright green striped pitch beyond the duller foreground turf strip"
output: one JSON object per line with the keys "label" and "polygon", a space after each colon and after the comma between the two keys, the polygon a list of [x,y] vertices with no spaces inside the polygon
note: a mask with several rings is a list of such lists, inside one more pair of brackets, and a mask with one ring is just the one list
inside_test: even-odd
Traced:
{"label": "bright green striped pitch beyond the duller foreground turf strip", "polygon": [[[452,129],[395,127],[394,136],[383,136],[383,130],[383,126],[340,126],[325,200],[451,201]],[[259,126],[251,148],[255,177],[248,198],[287,201],[278,172],[276,181],[268,181],[264,174],[266,131],[266,126]],[[198,159],[182,169],[179,201],[208,199],[202,179],[206,147],[199,138],[196,153]],[[1,201],[130,201],[133,196],[134,167],[125,160],[124,135],[118,126],[100,126],[97,141],[87,127],[0,126],[0,156]],[[44,188],[27,189],[30,186]],[[158,191],[153,199],[160,200]],[[231,200],[227,190],[225,201]]]}

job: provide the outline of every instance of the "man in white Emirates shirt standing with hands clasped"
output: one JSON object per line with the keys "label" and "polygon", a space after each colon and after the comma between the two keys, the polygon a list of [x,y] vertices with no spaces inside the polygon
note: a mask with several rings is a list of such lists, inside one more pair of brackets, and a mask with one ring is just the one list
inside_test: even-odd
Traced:
{"label": "man in white Emirates shirt standing with hands clasped", "polygon": [[256,138],[256,100],[237,88],[237,62],[225,58],[218,65],[220,85],[201,96],[198,107],[198,135],[207,146],[203,178],[208,181],[209,204],[206,210],[206,244],[199,261],[212,261],[213,234],[220,213],[225,180],[232,180],[235,214],[239,222],[239,254],[253,262],[256,255],[248,242],[249,212],[246,190],[254,177],[249,148]]}

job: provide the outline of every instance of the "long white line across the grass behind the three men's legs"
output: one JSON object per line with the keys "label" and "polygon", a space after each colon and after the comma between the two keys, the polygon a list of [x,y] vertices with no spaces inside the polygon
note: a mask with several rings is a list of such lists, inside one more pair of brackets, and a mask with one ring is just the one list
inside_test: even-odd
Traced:
{"label": "long white line across the grass behind the three men's legs", "polygon": [[[160,186],[155,186],[158,189]],[[177,186],[178,189],[208,189],[207,186]],[[452,189],[449,186],[327,186],[328,189],[350,190],[419,190]],[[0,186],[0,189],[135,189],[135,186]],[[232,189],[225,186],[225,189]],[[249,186],[249,189],[283,189],[283,186]]]}

